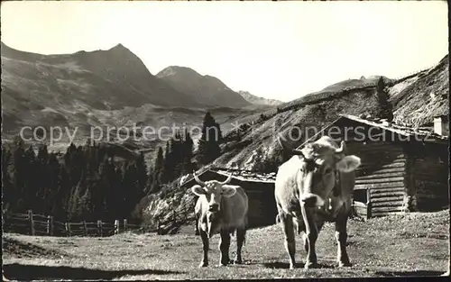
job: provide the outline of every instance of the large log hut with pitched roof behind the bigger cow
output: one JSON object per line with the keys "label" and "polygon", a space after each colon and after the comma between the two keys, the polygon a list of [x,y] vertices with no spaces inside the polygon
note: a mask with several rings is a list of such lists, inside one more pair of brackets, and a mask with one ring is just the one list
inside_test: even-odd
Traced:
{"label": "large log hut with pitched roof behind the bigger cow", "polygon": [[341,115],[306,142],[325,135],[346,141],[347,153],[362,159],[354,186],[357,214],[368,218],[449,205],[447,136]]}

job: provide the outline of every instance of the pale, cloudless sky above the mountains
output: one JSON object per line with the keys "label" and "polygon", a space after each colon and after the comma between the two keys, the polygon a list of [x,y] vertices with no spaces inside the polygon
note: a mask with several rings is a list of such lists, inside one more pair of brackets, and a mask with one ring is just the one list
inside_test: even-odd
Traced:
{"label": "pale, cloudless sky above the mountains", "polygon": [[2,2],[2,41],[41,54],[118,43],[168,66],[290,101],[348,79],[402,77],[448,52],[445,1]]}

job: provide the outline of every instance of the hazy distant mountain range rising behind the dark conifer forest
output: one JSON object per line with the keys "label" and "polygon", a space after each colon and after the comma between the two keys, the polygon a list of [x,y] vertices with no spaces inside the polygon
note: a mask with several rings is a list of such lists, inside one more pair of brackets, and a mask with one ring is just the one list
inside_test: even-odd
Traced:
{"label": "hazy distant mountain range rising behind the dark conifer forest", "polygon": [[41,55],[2,42],[1,56],[3,139],[25,125],[78,127],[82,141],[91,126],[196,125],[207,110],[218,122],[233,122],[262,110],[218,78],[190,68],[169,67],[153,76],[122,44]]}

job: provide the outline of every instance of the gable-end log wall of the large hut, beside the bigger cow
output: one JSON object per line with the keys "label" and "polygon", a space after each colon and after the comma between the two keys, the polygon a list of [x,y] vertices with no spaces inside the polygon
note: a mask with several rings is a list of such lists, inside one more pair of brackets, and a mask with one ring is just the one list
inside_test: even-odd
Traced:
{"label": "gable-end log wall of the large hut, beside the bigger cow", "polygon": [[354,201],[371,202],[369,216],[406,211],[407,157],[400,136],[353,121],[342,120],[335,125],[341,130],[327,135],[345,140],[346,154],[362,160],[355,171]]}

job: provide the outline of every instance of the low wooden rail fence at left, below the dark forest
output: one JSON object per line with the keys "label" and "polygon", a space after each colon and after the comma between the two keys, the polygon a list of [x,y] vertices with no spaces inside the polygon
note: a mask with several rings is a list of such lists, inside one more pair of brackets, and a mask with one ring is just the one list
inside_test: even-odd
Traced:
{"label": "low wooden rail fence at left, below the dark forest", "polygon": [[115,220],[115,222],[97,221],[97,223],[61,223],[53,219],[53,216],[32,214],[11,214],[4,217],[4,231],[29,235],[46,236],[96,236],[105,237],[119,232],[140,230],[140,224]]}

